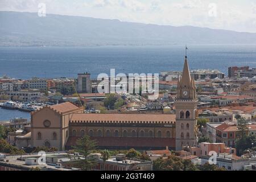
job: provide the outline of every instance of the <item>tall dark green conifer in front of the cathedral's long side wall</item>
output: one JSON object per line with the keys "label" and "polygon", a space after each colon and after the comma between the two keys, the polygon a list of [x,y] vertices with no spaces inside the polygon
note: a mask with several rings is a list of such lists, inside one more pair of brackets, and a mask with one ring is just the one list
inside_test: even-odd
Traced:
{"label": "tall dark green conifer in front of the cathedral's long side wall", "polygon": [[75,166],[81,168],[84,171],[88,171],[92,169],[93,166],[95,166],[94,159],[88,159],[88,155],[91,151],[95,150],[96,148],[96,141],[91,140],[89,136],[82,137],[80,139],[77,139],[76,146],[73,146],[75,152],[79,152],[82,156],[84,156],[84,159],[80,159],[77,162],[75,162]]}

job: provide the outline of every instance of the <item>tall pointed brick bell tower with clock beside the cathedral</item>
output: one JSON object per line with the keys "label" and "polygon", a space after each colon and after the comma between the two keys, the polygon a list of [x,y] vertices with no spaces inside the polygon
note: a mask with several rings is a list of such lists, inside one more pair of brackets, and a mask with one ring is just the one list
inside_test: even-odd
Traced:
{"label": "tall pointed brick bell tower with clock beside the cathedral", "polygon": [[[186,47],[187,50],[187,47]],[[182,77],[177,83],[176,107],[176,151],[196,145],[196,84],[190,75],[187,55]]]}

